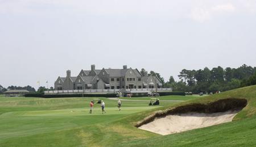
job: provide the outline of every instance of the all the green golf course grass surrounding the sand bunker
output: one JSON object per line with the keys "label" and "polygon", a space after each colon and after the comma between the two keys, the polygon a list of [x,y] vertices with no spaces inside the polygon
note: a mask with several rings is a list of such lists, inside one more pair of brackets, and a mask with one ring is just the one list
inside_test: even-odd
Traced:
{"label": "all the green golf course grass surrounding the sand bunker", "polygon": [[[256,86],[203,97],[160,97],[160,107],[147,100],[102,98],[106,114],[90,98],[0,98],[0,146],[255,146]],[[184,102],[171,101],[187,99]],[[156,110],[225,98],[245,98],[248,104],[230,123],[161,136],[133,127]],[[144,99],[144,98],[138,98]],[[73,111],[73,112],[72,112]]]}

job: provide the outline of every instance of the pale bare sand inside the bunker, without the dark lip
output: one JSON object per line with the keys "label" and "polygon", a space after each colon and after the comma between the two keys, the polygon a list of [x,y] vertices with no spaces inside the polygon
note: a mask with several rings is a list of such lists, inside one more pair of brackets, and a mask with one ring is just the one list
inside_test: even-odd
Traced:
{"label": "pale bare sand inside the bunker, without the dark lip", "polygon": [[139,128],[160,135],[169,135],[191,129],[227,123],[232,121],[237,113],[238,111],[226,111],[213,114],[192,112],[187,114],[168,115],[166,117],[156,118],[154,121],[144,124]]}

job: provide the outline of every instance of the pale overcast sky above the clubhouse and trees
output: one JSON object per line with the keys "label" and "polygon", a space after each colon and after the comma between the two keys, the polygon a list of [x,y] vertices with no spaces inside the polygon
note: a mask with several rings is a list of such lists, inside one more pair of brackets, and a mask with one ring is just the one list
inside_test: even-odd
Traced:
{"label": "pale overcast sky above the clubhouse and trees", "polygon": [[256,1],[0,0],[0,85],[53,86],[66,70],[256,66]]}

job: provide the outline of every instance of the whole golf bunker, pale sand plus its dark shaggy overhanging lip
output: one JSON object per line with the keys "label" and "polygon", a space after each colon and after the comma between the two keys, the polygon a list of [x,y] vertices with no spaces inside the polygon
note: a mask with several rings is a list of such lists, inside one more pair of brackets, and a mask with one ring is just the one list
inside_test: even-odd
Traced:
{"label": "whole golf bunker, pale sand plus its dark shaggy overhanging lip", "polygon": [[154,112],[135,127],[168,135],[232,121],[247,105],[246,99],[220,99],[206,104],[191,103]]}

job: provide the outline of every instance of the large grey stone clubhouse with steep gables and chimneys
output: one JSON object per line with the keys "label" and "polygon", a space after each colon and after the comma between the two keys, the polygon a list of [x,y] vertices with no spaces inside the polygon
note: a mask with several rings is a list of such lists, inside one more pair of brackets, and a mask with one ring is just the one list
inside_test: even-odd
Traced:
{"label": "large grey stone clubhouse with steep gables and chimneys", "polygon": [[149,75],[142,76],[138,69],[96,69],[81,70],[76,77],[67,70],[66,77],[58,77],[54,83],[55,90],[88,90],[88,89],[154,89],[161,88],[159,78]]}

